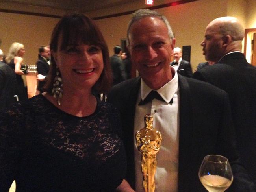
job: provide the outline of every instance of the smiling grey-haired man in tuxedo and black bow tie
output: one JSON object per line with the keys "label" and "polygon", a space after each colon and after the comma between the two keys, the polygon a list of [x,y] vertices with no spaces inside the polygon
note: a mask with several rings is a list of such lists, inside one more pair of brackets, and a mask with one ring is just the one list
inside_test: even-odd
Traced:
{"label": "smiling grey-haired man in tuxedo and black bow tie", "polygon": [[[156,192],[205,192],[198,170],[209,154],[224,155],[231,162],[234,181],[230,191],[252,191],[246,174],[240,173],[243,168],[236,163],[226,92],[178,75],[170,66],[175,39],[163,15],[148,9],[136,11],[127,34],[132,63],[141,77],[114,86],[107,100],[121,114],[130,185],[143,192],[141,153],[135,133],[145,127],[145,114],[151,114],[153,127],[162,134],[156,157]],[[161,99],[150,101],[147,96],[154,94]]]}

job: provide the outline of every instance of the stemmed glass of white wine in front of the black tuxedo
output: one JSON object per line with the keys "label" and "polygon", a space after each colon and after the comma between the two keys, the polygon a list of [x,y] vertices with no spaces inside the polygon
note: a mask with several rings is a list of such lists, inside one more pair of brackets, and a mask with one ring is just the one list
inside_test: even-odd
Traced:
{"label": "stemmed glass of white wine in front of the black tuxedo", "polygon": [[207,155],[199,169],[199,179],[209,192],[224,192],[233,181],[233,174],[226,157]]}

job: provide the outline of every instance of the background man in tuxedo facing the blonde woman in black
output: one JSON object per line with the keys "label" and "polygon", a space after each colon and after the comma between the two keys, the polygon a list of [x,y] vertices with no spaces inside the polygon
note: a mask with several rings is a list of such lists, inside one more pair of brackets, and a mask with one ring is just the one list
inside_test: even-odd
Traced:
{"label": "background man in tuxedo facing the blonde woman in black", "polygon": [[46,83],[46,78],[50,70],[51,52],[48,46],[41,46],[39,49],[37,60],[37,80],[39,80],[38,90],[44,92],[43,87]]}

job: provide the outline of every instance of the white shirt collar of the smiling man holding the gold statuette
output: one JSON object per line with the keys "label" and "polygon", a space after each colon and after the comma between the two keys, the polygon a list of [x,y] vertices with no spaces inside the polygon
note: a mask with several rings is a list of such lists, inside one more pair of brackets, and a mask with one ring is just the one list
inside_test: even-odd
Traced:
{"label": "white shirt collar of the smiling man holding the gold statuette", "polygon": [[[173,68],[173,66],[170,66]],[[170,68],[171,70],[171,68]],[[175,70],[174,70],[175,71]],[[146,85],[146,83],[141,79],[141,99],[144,100],[152,89]],[[178,90],[178,74],[175,71],[174,77],[171,81],[157,89],[156,91],[160,96],[165,100],[166,103],[169,103],[173,98],[175,92]]]}

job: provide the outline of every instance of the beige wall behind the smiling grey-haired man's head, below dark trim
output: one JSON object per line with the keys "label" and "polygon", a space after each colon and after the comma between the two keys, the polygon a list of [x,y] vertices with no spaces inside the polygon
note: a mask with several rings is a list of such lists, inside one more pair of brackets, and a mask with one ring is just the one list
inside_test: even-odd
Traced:
{"label": "beige wall behind the smiling grey-haired man's head, below dark trim", "polygon": [[[216,11],[217,10],[217,11]],[[198,63],[204,62],[200,42],[204,38],[204,29],[216,17],[226,15],[226,0],[200,0],[173,7],[156,9],[169,20],[176,37],[176,46],[191,45],[191,63],[194,69]],[[130,15],[96,20],[108,43],[109,53],[126,38],[127,24]]]}

